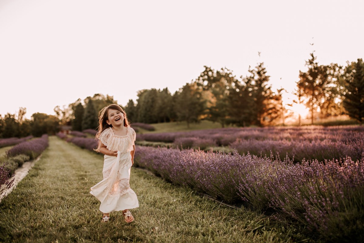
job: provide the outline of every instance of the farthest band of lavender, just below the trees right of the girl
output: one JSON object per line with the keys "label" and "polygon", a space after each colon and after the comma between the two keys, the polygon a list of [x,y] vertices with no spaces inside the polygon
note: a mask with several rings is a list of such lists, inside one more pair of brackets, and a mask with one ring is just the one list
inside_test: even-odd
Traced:
{"label": "farthest band of lavender, just below the trees right of the girl", "polygon": [[194,137],[212,139],[217,146],[228,146],[237,139],[242,140],[286,140],[286,141],[356,141],[363,138],[364,126],[304,126],[266,128],[220,128],[190,132],[139,134],[138,140],[151,142],[174,142],[176,138]]}

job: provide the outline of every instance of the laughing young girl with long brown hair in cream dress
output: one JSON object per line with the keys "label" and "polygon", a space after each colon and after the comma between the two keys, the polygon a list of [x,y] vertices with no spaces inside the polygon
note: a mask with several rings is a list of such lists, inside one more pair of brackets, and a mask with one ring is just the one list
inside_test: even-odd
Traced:
{"label": "laughing young girl with long brown hair in cream dress", "polygon": [[100,200],[101,222],[108,222],[110,213],[122,211],[125,222],[134,220],[129,209],[139,207],[137,195],[130,188],[130,167],[134,164],[135,131],[128,124],[119,105],[104,107],[99,113],[99,147],[104,154],[103,180],[91,187],[90,193]]}

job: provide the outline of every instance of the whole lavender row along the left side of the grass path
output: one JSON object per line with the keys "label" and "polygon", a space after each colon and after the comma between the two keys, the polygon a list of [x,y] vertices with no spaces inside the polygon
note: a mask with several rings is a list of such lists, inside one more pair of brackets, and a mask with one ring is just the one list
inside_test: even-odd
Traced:
{"label": "whole lavender row along the left side of the grass path", "polygon": [[13,180],[9,178],[16,168],[23,165],[25,161],[38,157],[48,147],[48,135],[41,138],[24,141],[6,152],[6,156],[0,158],[0,195],[11,187]]}

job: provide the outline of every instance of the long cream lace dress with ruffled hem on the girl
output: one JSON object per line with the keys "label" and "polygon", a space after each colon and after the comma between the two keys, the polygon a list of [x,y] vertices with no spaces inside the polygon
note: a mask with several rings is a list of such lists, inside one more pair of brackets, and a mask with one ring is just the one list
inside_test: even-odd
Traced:
{"label": "long cream lace dress with ruffled hem on the girl", "polygon": [[103,180],[91,187],[91,195],[100,200],[100,211],[110,213],[139,207],[137,195],[130,188],[130,151],[133,150],[135,131],[127,128],[125,136],[115,135],[112,128],[105,129],[99,139],[110,151],[118,150],[118,156],[104,155]]}

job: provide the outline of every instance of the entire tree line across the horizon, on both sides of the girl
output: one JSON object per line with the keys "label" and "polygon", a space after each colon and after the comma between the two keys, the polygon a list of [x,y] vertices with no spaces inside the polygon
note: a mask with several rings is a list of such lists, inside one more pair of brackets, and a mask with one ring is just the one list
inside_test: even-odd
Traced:
{"label": "entire tree line across the horizon, on both sides of the girl", "polygon": [[[336,63],[319,65],[311,53],[306,67],[307,70],[299,71],[293,102],[309,108],[312,124],[316,116],[340,114],[348,114],[362,124],[363,60],[347,62],[345,67]],[[264,63],[249,67],[248,71],[246,77],[237,78],[227,68],[214,70],[204,66],[195,80],[174,94],[167,88],[139,90],[136,102],[130,99],[123,108],[131,122],[186,121],[189,126],[191,122],[207,119],[222,127],[284,125],[285,119],[292,115],[282,102],[285,89],[272,90]],[[0,115],[0,138],[55,134],[60,125],[70,125],[78,131],[96,129],[98,111],[112,103],[117,103],[112,96],[94,94],[63,107],[56,106],[55,115],[34,113],[31,119],[24,118],[26,108],[20,107],[18,114]]]}

